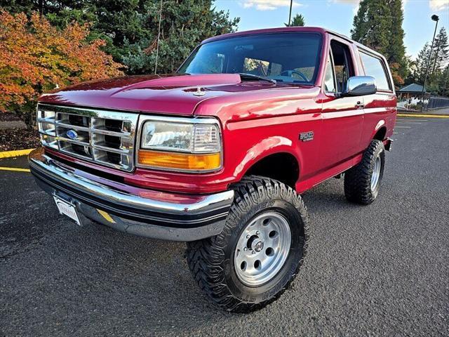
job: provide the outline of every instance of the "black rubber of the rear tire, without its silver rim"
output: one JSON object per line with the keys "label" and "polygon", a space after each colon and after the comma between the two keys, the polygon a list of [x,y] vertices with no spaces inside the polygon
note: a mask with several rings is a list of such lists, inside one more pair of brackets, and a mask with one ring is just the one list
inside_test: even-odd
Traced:
{"label": "black rubber of the rear tire, without its silver rim", "polygon": [[[374,189],[371,188],[371,178],[377,157],[380,158],[380,175]],[[362,161],[344,173],[344,195],[348,201],[356,204],[369,205],[379,194],[380,183],[384,175],[385,150],[380,140],[372,140],[363,154]]]}

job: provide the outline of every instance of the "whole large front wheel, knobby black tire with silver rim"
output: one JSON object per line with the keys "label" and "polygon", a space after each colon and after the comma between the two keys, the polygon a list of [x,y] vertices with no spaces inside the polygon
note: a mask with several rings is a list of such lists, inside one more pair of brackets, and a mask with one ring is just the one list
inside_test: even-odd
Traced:
{"label": "whole large front wheel, knobby black tire with silver rim", "polygon": [[252,312],[281,296],[307,250],[307,209],[279,181],[250,176],[234,186],[223,231],[187,244],[187,263],[201,289],[221,308]]}

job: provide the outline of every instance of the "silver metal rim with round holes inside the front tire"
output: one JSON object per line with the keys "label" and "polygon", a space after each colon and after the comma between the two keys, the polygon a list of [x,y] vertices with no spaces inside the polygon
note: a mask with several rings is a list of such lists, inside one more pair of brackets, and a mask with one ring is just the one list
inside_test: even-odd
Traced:
{"label": "silver metal rim with round holes inside the front tire", "polygon": [[268,282],[286,262],[290,243],[290,225],[280,213],[262,213],[251,220],[241,233],[234,253],[239,280],[247,286]]}

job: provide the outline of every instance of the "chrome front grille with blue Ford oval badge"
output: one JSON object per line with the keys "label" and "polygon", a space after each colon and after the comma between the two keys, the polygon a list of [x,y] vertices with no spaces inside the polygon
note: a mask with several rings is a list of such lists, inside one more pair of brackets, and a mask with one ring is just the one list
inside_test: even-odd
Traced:
{"label": "chrome front grille with blue Ford oval badge", "polygon": [[133,171],[138,114],[38,105],[37,121],[44,146],[115,169]]}

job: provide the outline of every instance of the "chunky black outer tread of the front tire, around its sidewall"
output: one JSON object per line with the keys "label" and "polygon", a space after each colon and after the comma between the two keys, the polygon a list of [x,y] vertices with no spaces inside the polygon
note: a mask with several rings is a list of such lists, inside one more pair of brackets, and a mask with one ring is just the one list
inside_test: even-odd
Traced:
{"label": "chunky black outer tread of the front tire, around its sidewall", "polygon": [[[290,286],[299,271],[309,244],[309,218],[307,208],[299,194],[283,183],[262,176],[248,176],[232,186],[235,197],[222,232],[215,237],[187,243],[187,264],[196,283],[216,305],[230,312],[253,312],[278,299]],[[293,276],[286,286],[272,298],[260,303],[247,303],[236,298],[225,283],[222,275],[222,262],[225,258],[225,243],[232,234],[234,224],[243,217],[252,206],[260,204],[265,199],[281,198],[290,202],[299,211],[304,225],[304,246],[302,258],[297,264]]]}

